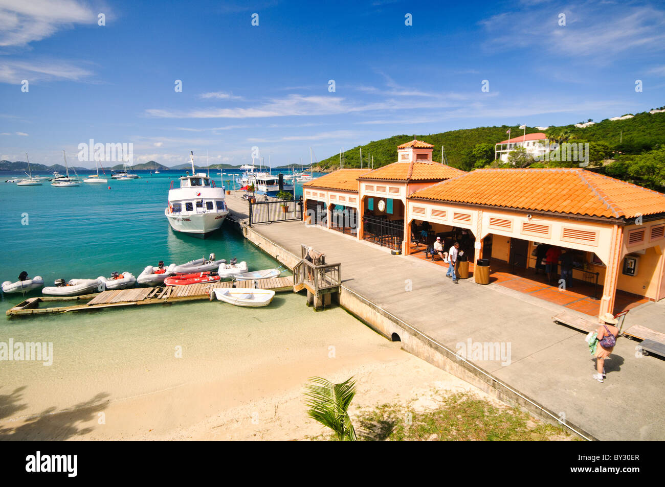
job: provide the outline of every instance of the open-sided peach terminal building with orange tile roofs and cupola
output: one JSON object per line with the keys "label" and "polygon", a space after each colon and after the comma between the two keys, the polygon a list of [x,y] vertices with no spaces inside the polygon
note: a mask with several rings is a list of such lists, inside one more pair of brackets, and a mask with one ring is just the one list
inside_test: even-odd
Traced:
{"label": "open-sided peach terminal building with orange tile roofs and cupola", "polygon": [[576,287],[593,289],[599,315],[616,311],[617,293],[665,298],[662,193],[581,168],[467,173],[432,161],[433,149],[413,140],[392,164],[305,183],[304,218],[405,255],[424,255],[437,236],[446,248],[459,241],[473,262],[516,275],[540,267],[540,245],[567,249]]}

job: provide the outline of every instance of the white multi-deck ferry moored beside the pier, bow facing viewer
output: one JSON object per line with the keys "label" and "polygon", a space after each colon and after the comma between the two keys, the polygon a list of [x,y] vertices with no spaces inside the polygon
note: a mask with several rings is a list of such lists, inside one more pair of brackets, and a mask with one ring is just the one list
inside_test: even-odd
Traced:
{"label": "white multi-deck ferry moored beside the pier, bow facing viewer", "polygon": [[194,169],[194,152],[190,155],[192,175],[180,178],[180,187],[174,188],[173,181],[168,191],[168,206],[164,215],[176,232],[192,233],[205,237],[224,223],[229,214],[224,199],[224,188],[215,181]]}

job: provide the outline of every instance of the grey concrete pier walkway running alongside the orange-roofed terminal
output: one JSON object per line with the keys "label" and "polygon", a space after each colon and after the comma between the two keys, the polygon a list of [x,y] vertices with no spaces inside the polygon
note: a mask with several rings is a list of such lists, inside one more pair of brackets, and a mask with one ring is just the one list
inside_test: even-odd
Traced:
{"label": "grey concrete pier walkway running alongside the orange-roofed terminal", "polygon": [[[227,201],[231,219],[242,222],[247,203]],[[300,261],[301,244],[340,262],[340,306],[483,391],[590,440],[665,439],[665,361],[636,353],[636,342],[618,339],[599,383],[584,334],[551,319],[561,309],[555,304],[495,284],[452,284],[441,266],[302,222],[239,225],[289,268]],[[624,327],[639,321],[660,330],[664,316],[665,302],[649,303]]]}

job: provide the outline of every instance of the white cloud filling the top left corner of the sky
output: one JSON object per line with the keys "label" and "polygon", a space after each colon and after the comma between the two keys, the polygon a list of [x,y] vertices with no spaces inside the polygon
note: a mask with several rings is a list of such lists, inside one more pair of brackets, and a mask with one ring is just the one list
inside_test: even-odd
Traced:
{"label": "white cloud filling the top left corner of the sky", "polygon": [[75,0],[0,0],[0,47],[25,46],[75,24],[96,26],[97,13]]}

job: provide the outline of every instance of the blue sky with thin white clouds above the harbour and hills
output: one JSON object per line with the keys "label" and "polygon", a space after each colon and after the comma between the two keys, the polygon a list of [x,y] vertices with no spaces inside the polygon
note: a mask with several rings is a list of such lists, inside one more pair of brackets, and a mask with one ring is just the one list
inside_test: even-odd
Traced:
{"label": "blue sky with thin white clouds above the harbour and hills", "polygon": [[258,146],[274,166],[599,121],[665,105],[664,51],[662,2],[0,0],[0,159],[75,161],[94,139],[134,144],[134,163],[239,165]]}

